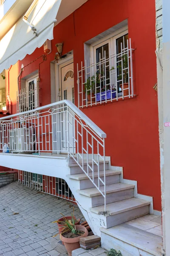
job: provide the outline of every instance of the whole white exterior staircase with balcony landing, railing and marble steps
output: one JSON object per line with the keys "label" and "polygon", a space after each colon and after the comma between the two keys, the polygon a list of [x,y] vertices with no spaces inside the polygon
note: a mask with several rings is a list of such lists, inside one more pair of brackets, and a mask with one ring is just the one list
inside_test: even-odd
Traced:
{"label": "whole white exterior staircase with balcony landing, railing and marble steps", "polygon": [[[148,215],[152,207],[150,201],[134,197],[136,187],[122,183],[120,168],[111,166],[110,157],[105,157],[105,132],[68,100],[22,112],[22,119],[20,115],[11,115],[10,121],[0,119],[0,150],[4,143],[9,148],[0,154],[1,165],[64,179],[105,249],[124,248],[123,256],[160,256],[161,236],[125,224]],[[9,127],[15,127],[14,131]],[[27,143],[22,138],[20,143],[18,131]]]}

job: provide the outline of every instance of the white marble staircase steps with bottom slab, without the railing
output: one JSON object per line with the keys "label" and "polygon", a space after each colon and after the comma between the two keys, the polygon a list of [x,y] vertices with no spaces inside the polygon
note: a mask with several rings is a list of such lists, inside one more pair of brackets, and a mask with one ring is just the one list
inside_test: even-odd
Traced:
{"label": "white marble staircase steps with bottom slab, without the railing", "polygon": [[[91,163],[92,164],[92,163]],[[85,163],[84,163],[85,165]],[[89,180],[77,163],[68,164],[70,174],[66,175],[69,186],[74,183],[74,196],[93,232],[102,238],[106,250],[121,250],[123,256],[161,256],[162,239],[136,227],[127,221],[149,214],[150,202],[134,197],[134,185],[120,182],[121,172],[109,169],[105,161],[106,212],[104,197]],[[100,161],[100,177],[104,177],[103,162]],[[95,168],[95,167],[94,167]],[[93,177],[91,172],[90,177]],[[98,182],[97,169],[94,182]],[[102,185],[102,184],[101,184]],[[100,186],[104,191],[104,186]],[[87,213],[87,214],[85,214]]]}

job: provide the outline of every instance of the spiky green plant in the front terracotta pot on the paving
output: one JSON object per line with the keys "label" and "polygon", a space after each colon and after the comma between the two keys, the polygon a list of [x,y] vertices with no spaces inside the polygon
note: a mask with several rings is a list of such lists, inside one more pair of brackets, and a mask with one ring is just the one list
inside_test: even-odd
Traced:
{"label": "spiky green plant in the front terracotta pot on the paving", "polygon": [[75,220],[72,216],[71,220],[65,218],[65,225],[62,227],[60,239],[64,242],[68,256],[72,255],[72,251],[80,247],[79,239],[88,236],[88,230],[81,225],[75,225]]}

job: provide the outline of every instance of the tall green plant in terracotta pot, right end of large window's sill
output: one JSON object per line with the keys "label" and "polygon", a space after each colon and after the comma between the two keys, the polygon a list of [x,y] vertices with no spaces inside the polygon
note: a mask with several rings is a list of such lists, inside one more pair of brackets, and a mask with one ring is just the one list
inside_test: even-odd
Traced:
{"label": "tall green plant in terracotta pot, right end of large window's sill", "polygon": [[[120,88],[123,92],[124,96],[129,96],[129,77],[128,77],[128,56],[127,54],[122,55],[122,62],[120,65],[117,66],[118,72],[118,80],[123,81],[123,84],[120,84]],[[122,69],[123,69],[123,78],[122,78]],[[125,89],[125,90],[124,90]]]}

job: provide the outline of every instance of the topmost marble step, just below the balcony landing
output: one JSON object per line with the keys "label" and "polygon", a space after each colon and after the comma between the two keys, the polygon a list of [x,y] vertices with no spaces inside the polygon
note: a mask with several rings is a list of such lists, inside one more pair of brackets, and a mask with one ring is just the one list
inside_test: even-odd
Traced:
{"label": "topmost marble step, just below the balcony landing", "polygon": [[[108,163],[109,161],[105,161],[105,170],[108,170]],[[80,165],[82,165],[82,163],[80,162]],[[70,174],[79,174],[79,173],[84,173],[83,170],[81,169],[81,167],[77,164],[77,163],[69,163],[68,166],[70,167]],[[88,164],[86,162],[84,162],[84,169],[87,172],[87,169],[89,170],[89,172],[91,172],[90,167],[92,167],[92,161],[89,161]],[[99,170],[103,171],[104,170],[104,162],[103,161],[99,161]],[[98,166],[94,163],[94,172],[98,171]]]}

